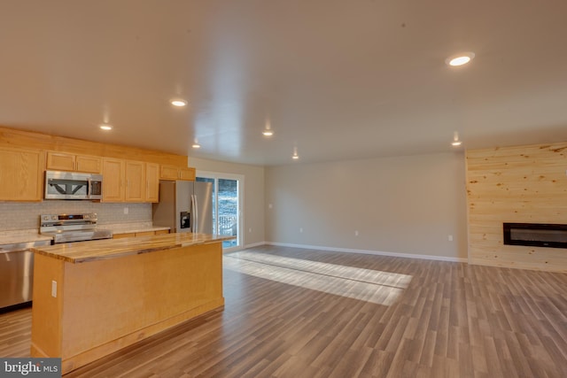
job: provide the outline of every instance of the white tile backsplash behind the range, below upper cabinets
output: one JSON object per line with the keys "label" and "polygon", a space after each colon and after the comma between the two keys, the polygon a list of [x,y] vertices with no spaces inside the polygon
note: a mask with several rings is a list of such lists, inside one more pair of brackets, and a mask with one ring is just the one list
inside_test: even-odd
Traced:
{"label": "white tile backsplash behind the range, below upper cabinets", "polygon": [[[128,209],[128,214],[125,210]],[[40,214],[96,212],[98,224],[151,222],[151,204],[101,204],[90,201],[0,202],[0,231],[39,229]]]}

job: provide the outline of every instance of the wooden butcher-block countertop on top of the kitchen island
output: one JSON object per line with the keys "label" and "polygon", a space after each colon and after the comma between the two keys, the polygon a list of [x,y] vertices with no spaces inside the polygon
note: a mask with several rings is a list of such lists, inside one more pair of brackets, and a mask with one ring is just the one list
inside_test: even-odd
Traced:
{"label": "wooden butcher-block countertop on top of the kitchen island", "polygon": [[32,248],[32,251],[70,263],[83,263],[128,255],[171,250],[193,245],[220,243],[235,236],[176,233],[127,237],[122,239],[93,240],[89,242],[61,243]]}

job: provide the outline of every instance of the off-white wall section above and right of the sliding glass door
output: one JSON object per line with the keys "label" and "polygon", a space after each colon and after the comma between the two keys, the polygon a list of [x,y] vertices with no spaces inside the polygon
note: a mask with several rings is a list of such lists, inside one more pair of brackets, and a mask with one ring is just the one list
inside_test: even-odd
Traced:
{"label": "off-white wall section above and right of the sliding glass door", "polygon": [[[198,171],[242,174],[245,177],[244,245],[264,242],[264,167],[247,166],[203,158],[189,158],[189,166]],[[249,230],[252,228],[252,232]]]}

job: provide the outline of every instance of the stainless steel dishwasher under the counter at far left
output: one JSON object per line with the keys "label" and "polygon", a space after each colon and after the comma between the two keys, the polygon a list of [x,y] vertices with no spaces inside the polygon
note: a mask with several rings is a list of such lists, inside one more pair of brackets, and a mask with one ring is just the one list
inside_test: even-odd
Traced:
{"label": "stainless steel dishwasher under the counter at far left", "polygon": [[50,240],[42,240],[0,244],[0,309],[32,300],[34,252],[30,248],[50,243]]}

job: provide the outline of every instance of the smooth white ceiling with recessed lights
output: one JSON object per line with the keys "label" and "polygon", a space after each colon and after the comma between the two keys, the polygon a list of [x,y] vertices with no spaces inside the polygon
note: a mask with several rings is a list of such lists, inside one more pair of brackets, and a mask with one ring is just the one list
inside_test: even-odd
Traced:
{"label": "smooth white ceiling with recessed lights", "polygon": [[565,141],[567,2],[3,0],[0,125],[267,166]]}

